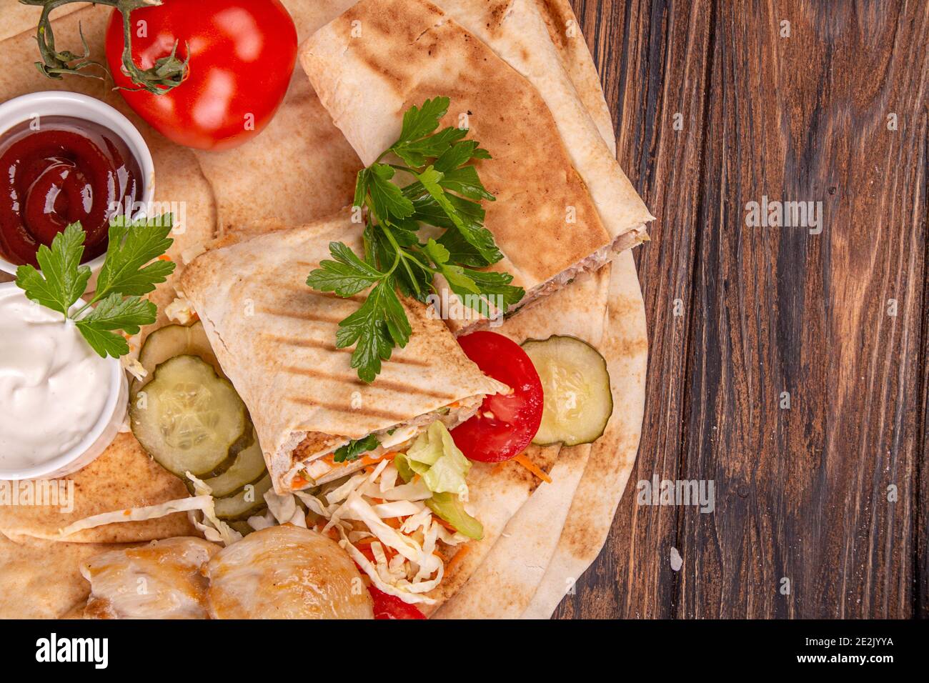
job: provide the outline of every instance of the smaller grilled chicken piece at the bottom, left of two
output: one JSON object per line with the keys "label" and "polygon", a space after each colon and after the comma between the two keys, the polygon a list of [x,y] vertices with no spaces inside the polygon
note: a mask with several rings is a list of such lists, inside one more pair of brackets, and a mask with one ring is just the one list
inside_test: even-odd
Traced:
{"label": "smaller grilled chicken piece at the bottom, left of two", "polygon": [[201,568],[217,550],[178,537],[90,558],[81,565],[90,582],[85,619],[206,619]]}

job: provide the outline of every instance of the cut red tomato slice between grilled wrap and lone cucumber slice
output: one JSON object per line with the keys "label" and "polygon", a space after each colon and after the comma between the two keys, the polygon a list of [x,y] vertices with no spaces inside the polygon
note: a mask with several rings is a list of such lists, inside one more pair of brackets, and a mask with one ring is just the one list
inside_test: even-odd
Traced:
{"label": "cut red tomato slice between grilled wrap and lone cucumber slice", "polygon": [[451,438],[471,460],[500,463],[516,457],[542,423],[542,382],[535,366],[516,342],[495,332],[474,332],[458,343],[464,355],[513,393],[488,396],[477,414],[451,430]]}

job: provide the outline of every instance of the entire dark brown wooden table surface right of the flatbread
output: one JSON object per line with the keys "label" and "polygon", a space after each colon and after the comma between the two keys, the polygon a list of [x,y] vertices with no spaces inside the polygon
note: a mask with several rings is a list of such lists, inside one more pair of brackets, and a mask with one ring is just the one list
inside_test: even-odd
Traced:
{"label": "entire dark brown wooden table surface right of the flatbread", "polygon": [[[658,220],[638,459],[556,615],[929,617],[929,3],[573,4]],[[653,475],[715,510],[636,505]]]}

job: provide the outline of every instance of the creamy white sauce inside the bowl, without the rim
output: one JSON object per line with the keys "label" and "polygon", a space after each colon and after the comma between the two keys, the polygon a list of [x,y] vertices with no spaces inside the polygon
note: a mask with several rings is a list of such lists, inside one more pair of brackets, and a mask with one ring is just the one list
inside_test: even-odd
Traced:
{"label": "creamy white sauce inside the bowl, without the rim", "polygon": [[103,412],[110,376],[73,322],[0,289],[0,468],[40,465],[77,445]]}

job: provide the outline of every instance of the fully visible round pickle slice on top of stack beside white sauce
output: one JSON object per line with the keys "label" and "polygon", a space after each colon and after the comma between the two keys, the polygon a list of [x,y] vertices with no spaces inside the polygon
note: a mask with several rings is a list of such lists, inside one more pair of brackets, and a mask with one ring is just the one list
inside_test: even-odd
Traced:
{"label": "fully visible round pickle slice on top of stack beside white sauce", "polygon": [[142,448],[182,479],[186,471],[215,476],[252,441],[239,394],[197,356],[176,356],[159,365],[144,396],[130,401],[129,418]]}

